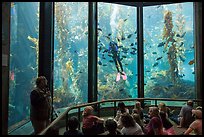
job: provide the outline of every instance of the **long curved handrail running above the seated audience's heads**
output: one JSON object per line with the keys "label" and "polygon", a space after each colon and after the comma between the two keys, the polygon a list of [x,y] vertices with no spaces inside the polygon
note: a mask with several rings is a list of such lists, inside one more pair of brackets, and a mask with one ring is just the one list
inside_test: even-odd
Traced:
{"label": "long curved handrail running above the seated audience's heads", "polygon": [[[47,130],[51,127],[53,127],[57,122],[59,122],[64,116],[66,116],[66,120],[68,119],[68,112],[72,109],[76,109],[78,108],[78,111],[80,111],[81,107],[85,107],[85,106],[92,106],[92,105],[98,105],[101,103],[105,103],[105,102],[114,102],[114,108],[116,108],[116,102],[119,101],[146,101],[146,100],[155,100],[155,105],[157,105],[157,101],[188,101],[188,100],[192,100],[193,102],[202,102],[201,99],[170,99],[170,98],[126,98],[126,99],[110,99],[110,100],[103,100],[103,101],[97,101],[97,102],[92,102],[92,103],[86,103],[86,104],[80,104],[80,105],[76,105],[73,107],[69,107],[67,108],[67,110],[65,110],[59,117],[57,117],[49,126],[47,126],[41,133],[39,133],[39,135],[44,135]],[[78,112],[80,113],[80,112]],[[67,127],[67,122],[66,122],[66,127]]]}

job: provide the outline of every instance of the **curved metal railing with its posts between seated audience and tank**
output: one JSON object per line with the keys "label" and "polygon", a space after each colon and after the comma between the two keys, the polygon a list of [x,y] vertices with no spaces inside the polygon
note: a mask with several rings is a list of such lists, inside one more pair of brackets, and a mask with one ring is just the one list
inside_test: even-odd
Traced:
{"label": "curved metal railing with its posts between seated audience and tank", "polygon": [[[131,99],[113,99],[113,100],[104,100],[104,101],[98,101],[98,102],[92,102],[92,103],[86,103],[86,104],[80,104],[80,105],[76,105],[73,107],[68,108],[67,110],[65,110],[59,117],[57,117],[47,128],[45,128],[39,135],[44,135],[48,129],[50,129],[51,127],[53,127],[55,124],[57,124],[61,119],[63,119],[66,116],[66,130],[68,129],[68,125],[67,125],[67,121],[68,121],[68,116],[69,116],[69,112],[73,109],[78,109],[78,118],[80,119],[80,112],[81,112],[81,108],[82,107],[86,107],[86,106],[96,106],[98,107],[98,116],[100,116],[100,104],[102,103],[106,103],[106,102],[112,102],[114,104],[113,108],[114,108],[114,115],[116,114],[116,102],[120,102],[120,101],[140,101],[140,102],[144,102],[147,100],[154,100],[154,106],[157,106],[157,102],[158,101],[188,101],[189,99],[169,99],[169,98],[131,98]],[[198,99],[191,99],[193,100],[193,102],[197,102],[202,104],[202,100],[198,100]]]}

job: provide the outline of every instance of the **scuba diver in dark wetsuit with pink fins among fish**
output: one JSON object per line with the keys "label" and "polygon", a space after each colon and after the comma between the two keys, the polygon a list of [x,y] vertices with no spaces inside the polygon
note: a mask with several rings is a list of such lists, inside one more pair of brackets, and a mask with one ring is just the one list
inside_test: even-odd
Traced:
{"label": "scuba diver in dark wetsuit with pink fins among fish", "polygon": [[[120,60],[120,52],[118,51],[118,44],[114,41],[111,41],[109,43],[108,51],[109,51],[109,53],[112,54],[112,58],[115,62],[115,66],[116,66],[116,69],[118,71],[118,74],[116,76],[116,81],[120,80],[120,76],[122,76],[123,80],[126,80],[127,76],[126,76],[125,72],[123,71],[123,66],[122,66],[122,63]],[[121,71],[119,70],[119,66],[120,66]]]}

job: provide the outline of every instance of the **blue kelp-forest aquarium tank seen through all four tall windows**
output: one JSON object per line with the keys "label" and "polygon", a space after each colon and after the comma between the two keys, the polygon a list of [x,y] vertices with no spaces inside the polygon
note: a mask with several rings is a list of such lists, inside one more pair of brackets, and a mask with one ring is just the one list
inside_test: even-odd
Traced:
{"label": "blue kelp-forest aquarium tank seen through all four tall windows", "polygon": [[[88,2],[54,2],[53,106],[88,102]],[[193,2],[143,7],[145,98],[195,98]],[[138,98],[137,7],[97,2],[97,100]],[[9,126],[29,119],[39,2],[11,2]],[[141,64],[140,64],[141,65]]]}

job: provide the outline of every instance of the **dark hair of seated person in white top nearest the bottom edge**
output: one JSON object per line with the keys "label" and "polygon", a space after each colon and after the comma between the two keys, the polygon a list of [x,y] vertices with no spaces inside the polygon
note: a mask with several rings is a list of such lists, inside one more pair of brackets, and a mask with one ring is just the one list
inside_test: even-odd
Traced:
{"label": "dark hair of seated person in white top nearest the bottom edge", "polygon": [[134,127],[135,120],[129,113],[124,113],[121,115],[121,122],[124,127]]}

